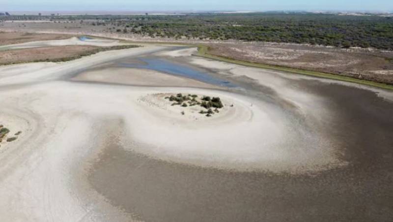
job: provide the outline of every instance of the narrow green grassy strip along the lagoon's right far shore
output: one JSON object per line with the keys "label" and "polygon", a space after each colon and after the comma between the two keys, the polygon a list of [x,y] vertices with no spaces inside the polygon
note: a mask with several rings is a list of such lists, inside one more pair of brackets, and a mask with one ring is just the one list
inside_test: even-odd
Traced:
{"label": "narrow green grassy strip along the lagoon's right far shore", "polygon": [[240,64],[240,65],[245,65],[245,66],[257,67],[257,68],[273,69],[273,70],[278,70],[278,71],[285,71],[285,72],[290,72],[290,73],[309,75],[309,76],[326,78],[326,79],[334,79],[334,80],[339,80],[339,81],[358,83],[358,84],[363,84],[363,85],[367,85],[367,86],[373,86],[373,87],[393,90],[392,85],[388,85],[388,84],[384,84],[384,83],[377,83],[377,82],[367,81],[367,80],[363,80],[363,79],[356,79],[356,78],[352,78],[352,77],[340,76],[337,74],[331,74],[331,73],[325,73],[325,72],[316,72],[316,71],[309,71],[309,70],[284,67],[284,66],[269,65],[269,64],[262,64],[262,63],[253,63],[253,62],[248,62],[248,61],[235,60],[235,59],[223,57],[223,56],[211,55],[211,54],[209,54],[209,47],[205,46],[205,45],[198,46],[197,56],[208,58],[208,59],[213,59],[213,60],[218,60],[218,61],[223,61],[226,63],[234,63],[234,64]]}

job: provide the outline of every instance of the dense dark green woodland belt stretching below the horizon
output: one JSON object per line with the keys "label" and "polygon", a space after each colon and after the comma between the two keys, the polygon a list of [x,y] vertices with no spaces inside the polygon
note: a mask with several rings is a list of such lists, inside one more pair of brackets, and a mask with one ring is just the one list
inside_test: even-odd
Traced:
{"label": "dense dark green woodland belt stretching below the horizon", "polygon": [[316,13],[8,16],[53,19],[151,37],[237,39],[393,50],[393,17]]}

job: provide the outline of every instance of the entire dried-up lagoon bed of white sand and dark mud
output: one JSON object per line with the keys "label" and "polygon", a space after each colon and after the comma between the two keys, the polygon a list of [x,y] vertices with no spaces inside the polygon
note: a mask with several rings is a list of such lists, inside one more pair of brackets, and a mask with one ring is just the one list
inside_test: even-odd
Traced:
{"label": "entire dried-up lagoon bed of white sand and dark mud", "polygon": [[[393,218],[392,92],[189,52],[152,45],[0,67],[1,122],[24,129],[1,146],[0,220]],[[141,57],[239,87],[118,66]],[[165,93],[234,106],[195,120],[154,96]]]}

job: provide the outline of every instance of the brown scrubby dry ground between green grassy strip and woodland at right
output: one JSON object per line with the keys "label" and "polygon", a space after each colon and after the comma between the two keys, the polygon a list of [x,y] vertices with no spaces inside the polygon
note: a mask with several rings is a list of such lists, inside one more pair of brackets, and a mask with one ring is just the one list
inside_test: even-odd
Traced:
{"label": "brown scrubby dry ground between green grassy strip and woodland at right", "polygon": [[213,43],[209,54],[393,84],[393,52],[279,43]]}

